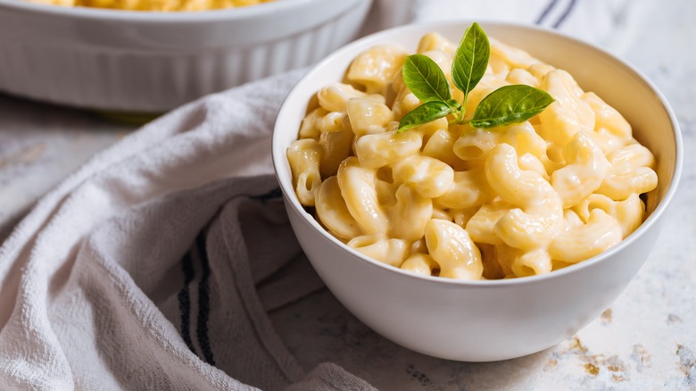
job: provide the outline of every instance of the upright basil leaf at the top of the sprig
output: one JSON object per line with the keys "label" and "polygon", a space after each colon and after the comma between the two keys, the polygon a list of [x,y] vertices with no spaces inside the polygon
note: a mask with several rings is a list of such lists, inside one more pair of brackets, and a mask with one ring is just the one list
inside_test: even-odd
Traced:
{"label": "upright basil leaf at the top of the sprig", "polygon": [[464,102],[469,91],[484,77],[490,56],[488,37],[478,23],[472,24],[464,32],[452,61],[452,83],[464,93]]}

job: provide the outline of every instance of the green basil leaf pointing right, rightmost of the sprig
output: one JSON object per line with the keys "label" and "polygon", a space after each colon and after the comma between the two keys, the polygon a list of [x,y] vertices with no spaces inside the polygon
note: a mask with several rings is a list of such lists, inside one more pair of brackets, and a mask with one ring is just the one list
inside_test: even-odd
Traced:
{"label": "green basil leaf pointing right, rightmost of the sprig", "polygon": [[495,128],[524,122],[554,102],[546,91],[525,85],[500,87],[486,96],[469,121],[475,128]]}

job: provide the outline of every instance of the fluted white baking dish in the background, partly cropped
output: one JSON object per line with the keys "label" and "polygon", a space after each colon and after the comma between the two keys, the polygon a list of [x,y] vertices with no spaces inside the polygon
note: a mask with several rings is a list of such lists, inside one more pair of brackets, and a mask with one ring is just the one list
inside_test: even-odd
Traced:
{"label": "fluted white baking dish in the background, partly cropped", "polygon": [[372,0],[277,0],[131,12],[0,0],[0,91],[73,106],[164,112],[318,62],[354,39]]}

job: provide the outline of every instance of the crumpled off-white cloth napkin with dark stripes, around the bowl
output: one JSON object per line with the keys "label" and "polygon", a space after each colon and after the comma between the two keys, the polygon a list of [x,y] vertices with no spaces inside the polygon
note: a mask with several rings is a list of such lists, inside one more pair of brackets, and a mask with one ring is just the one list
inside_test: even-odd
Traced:
{"label": "crumpled off-white cloth napkin with dark stripes, around the bowl", "polygon": [[[610,22],[630,12],[620,0],[416,1],[394,18],[397,3],[377,1],[369,28],[452,14],[443,7],[602,44],[630,25]],[[37,203],[0,247],[0,389],[373,389],[332,363],[301,368],[267,314],[323,287],[269,153],[302,74],[170,112]]]}

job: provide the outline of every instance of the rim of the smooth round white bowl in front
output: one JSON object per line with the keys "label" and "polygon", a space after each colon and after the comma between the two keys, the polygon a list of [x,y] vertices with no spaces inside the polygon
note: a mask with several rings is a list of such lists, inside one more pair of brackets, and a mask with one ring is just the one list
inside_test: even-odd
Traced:
{"label": "rim of the smooth round white bowl in front", "polygon": [[[2,0],[0,0],[2,1]],[[292,185],[290,188],[286,188],[286,185],[284,185],[283,180],[281,180],[279,174],[278,174],[278,165],[283,164],[284,161],[286,161],[286,148],[284,148],[282,151],[279,149],[280,147],[278,146],[279,141],[278,141],[278,134],[279,132],[277,131],[279,128],[278,125],[278,118],[280,118],[284,112],[288,111],[289,108],[287,106],[287,102],[290,101],[290,98],[294,96],[294,94],[297,92],[299,87],[302,85],[302,83],[307,80],[311,79],[313,75],[319,70],[322,69],[326,66],[328,66],[331,62],[335,61],[334,59],[336,57],[341,57],[345,52],[350,52],[353,50],[353,48],[357,46],[363,46],[367,45],[368,43],[371,43],[371,45],[376,45],[379,42],[382,42],[385,40],[385,37],[395,37],[398,35],[400,31],[407,31],[410,29],[423,29],[424,31],[427,29],[437,29],[437,28],[443,28],[444,26],[447,27],[462,27],[466,28],[468,25],[473,23],[474,21],[469,20],[469,19],[461,19],[461,20],[456,20],[456,21],[426,21],[426,22],[417,22],[417,23],[411,23],[409,25],[405,26],[400,26],[400,27],[395,27],[391,29],[384,29],[381,31],[377,31],[373,34],[369,34],[368,36],[361,37],[360,39],[357,39],[353,41],[352,43],[343,46],[333,52],[332,54],[328,54],[327,57],[325,57],[322,61],[318,62],[314,66],[311,67],[310,70],[304,73],[302,75],[302,78],[297,81],[295,86],[290,90],[290,92],[286,95],[286,98],[283,101],[283,104],[280,107],[280,110],[278,111],[278,116],[276,118],[276,121],[274,123],[273,127],[273,136],[272,136],[272,146],[271,146],[271,158],[273,162],[273,170],[274,174],[276,176],[276,179],[278,180],[278,186],[281,188],[283,192],[283,196],[286,199],[286,204],[290,204],[291,207],[294,209],[294,212],[297,212],[302,220],[308,223],[308,225],[311,227],[311,229],[314,229],[321,235],[322,237],[325,237],[328,239],[328,242],[331,243],[332,245],[335,245],[337,248],[340,248],[342,251],[346,251],[349,254],[354,255],[355,258],[357,258],[356,261],[360,262],[367,262],[371,266],[379,267],[381,269],[389,270],[394,273],[402,275],[404,278],[407,279],[417,279],[418,281],[423,281],[423,282],[433,282],[433,283],[439,283],[439,284],[451,284],[455,286],[463,285],[463,286],[469,286],[469,287],[510,287],[510,286],[517,286],[517,285],[527,285],[527,284],[536,284],[536,283],[541,283],[546,280],[550,279],[559,279],[563,278],[564,276],[570,274],[570,273],[575,273],[578,270],[583,270],[592,267],[592,265],[597,264],[599,262],[604,262],[614,254],[617,254],[618,252],[622,251],[624,248],[627,246],[631,245],[634,243],[634,241],[639,240],[640,237],[642,237],[643,233],[648,231],[653,225],[657,223],[657,221],[660,219],[660,217],[665,213],[667,210],[667,207],[672,203],[672,199],[675,197],[675,193],[677,191],[677,187],[679,185],[679,182],[682,177],[682,170],[683,170],[683,165],[684,165],[684,142],[682,139],[682,133],[681,129],[679,128],[679,122],[676,119],[675,112],[673,111],[671,105],[668,103],[667,98],[662,94],[662,92],[659,90],[659,88],[642,73],[642,71],[638,70],[637,68],[634,67],[629,62],[626,62],[626,60],[619,58],[616,54],[611,54],[607,50],[601,48],[600,46],[593,45],[589,43],[588,41],[585,41],[581,38],[578,37],[573,37],[567,33],[561,32],[556,29],[551,29],[551,28],[545,28],[542,26],[537,26],[534,24],[529,24],[529,23],[523,23],[523,22],[512,22],[512,21],[491,21],[491,20],[480,20],[477,21],[484,29],[486,26],[497,26],[497,27],[503,27],[503,28],[512,28],[512,29],[528,29],[528,30],[533,30],[536,32],[542,32],[545,34],[551,34],[555,35],[557,37],[561,37],[563,39],[569,40],[574,42],[575,44],[578,44],[580,46],[586,46],[590,50],[594,50],[598,52],[598,54],[601,54],[603,56],[606,56],[609,58],[609,60],[613,62],[617,62],[617,64],[623,66],[627,71],[630,71],[634,73],[635,76],[637,76],[637,79],[639,79],[643,84],[645,84],[652,92],[653,94],[658,98],[659,103],[662,105],[662,108],[665,110],[667,113],[667,117],[669,121],[671,122],[671,130],[674,134],[675,137],[675,167],[674,167],[674,173],[672,175],[672,179],[670,180],[670,183],[667,185],[667,191],[665,191],[664,196],[662,197],[661,200],[659,200],[659,203],[656,205],[655,210],[650,213],[650,216],[646,220],[642,221],[642,224],[638,227],[638,229],[635,229],[634,232],[632,232],[628,237],[623,239],[621,242],[619,242],[617,245],[614,245],[613,247],[609,248],[608,250],[602,252],[601,254],[597,254],[591,258],[588,258],[584,261],[581,262],[576,262],[574,264],[568,265],[567,267],[560,269],[560,270],[553,270],[549,273],[544,273],[542,275],[534,275],[534,276],[527,276],[527,277],[519,277],[515,279],[482,279],[482,280],[462,280],[462,279],[443,279],[440,277],[434,277],[434,276],[423,276],[419,275],[407,270],[402,270],[399,268],[395,268],[394,266],[391,266],[389,264],[386,264],[384,262],[379,262],[377,260],[374,260],[370,258],[367,255],[361,254],[357,250],[352,249],[348,245],[344,245],[341,241],[336,239],[333,235],[331,235],[326,229],[323,229],[319,225],[319,221],[317,221],[311,214],[308,212],[304,211],[304,208],[302,207],[302,204],[300,204],[297,196],[294,194],[294,188],[292,188]],[[292,182],[292,181],[291,181]],[[287,211],[291,212],[291,211]]]}

